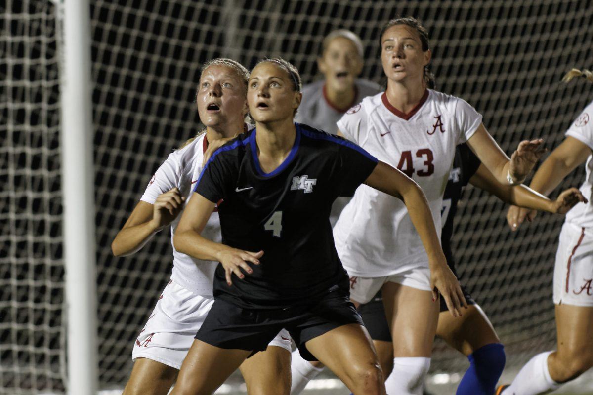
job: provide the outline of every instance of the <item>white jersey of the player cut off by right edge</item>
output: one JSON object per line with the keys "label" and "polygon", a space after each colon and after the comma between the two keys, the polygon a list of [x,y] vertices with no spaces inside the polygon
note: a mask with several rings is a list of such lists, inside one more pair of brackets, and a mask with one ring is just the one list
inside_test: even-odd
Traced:
{"label": "white jersey of the player cut off by right edge", "polygon": [[[585,110],[576,118],[575,122],[566,131],[566,136],[586,144],[593,150],[593,101],[585,107]],[[585,164],[585,182],[581,185],[582,194],[589,199],[589,203],[575,205],[567,214],[566,222],[578,227],[593,227],[593,202],[591,201],[591,186],[593,184],[593,156],[589,155]]]}

